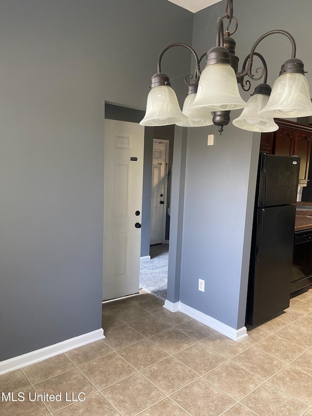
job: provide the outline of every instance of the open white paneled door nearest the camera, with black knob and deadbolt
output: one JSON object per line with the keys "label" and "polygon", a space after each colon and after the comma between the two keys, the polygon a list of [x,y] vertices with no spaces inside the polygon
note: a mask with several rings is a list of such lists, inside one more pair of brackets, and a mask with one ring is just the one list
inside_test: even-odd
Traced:
{"label": "open white paneled door nearest the camera, with black knob and deadbolt", "polygon": [[105,120],[103,300],[137,293],[144,127]]}

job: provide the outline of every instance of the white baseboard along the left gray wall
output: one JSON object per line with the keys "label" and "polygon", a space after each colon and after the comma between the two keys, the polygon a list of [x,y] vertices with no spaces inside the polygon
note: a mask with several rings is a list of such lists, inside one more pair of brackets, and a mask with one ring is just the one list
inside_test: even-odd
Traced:
{"label": "white baseboard along the left gray wall", "polygon": [[35,364],[36,362],[43,361],[47,358],[58,356],[66,351],[82,347],[90,342],[98,341],[99,339],[104,338],[103,329],[99,328],[96,331],[66,339],[65,341],[58,342],[57,344],[49,345],[48,347],[40,348],[39,350],[31,351],[30,353],[23,354],[18,357],[0,361],[0,375]]}

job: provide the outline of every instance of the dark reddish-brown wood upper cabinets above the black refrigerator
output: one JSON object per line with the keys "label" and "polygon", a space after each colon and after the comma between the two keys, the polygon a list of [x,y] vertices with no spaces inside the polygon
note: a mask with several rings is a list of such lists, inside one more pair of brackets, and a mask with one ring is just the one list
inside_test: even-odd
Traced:
{"label": "dark reddish-brown wood upper cabinets above the black refrigerator", "polygon": [[260,152],[271,155],[300,156],[299,186],[306,186],[312,145],[312,127],[284,119],[275,119],[276,132],[262,133]]}

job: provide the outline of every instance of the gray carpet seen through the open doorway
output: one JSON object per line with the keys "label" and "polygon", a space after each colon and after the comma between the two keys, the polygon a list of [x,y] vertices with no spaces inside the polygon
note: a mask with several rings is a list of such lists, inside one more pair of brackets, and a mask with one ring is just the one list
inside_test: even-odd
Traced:
{"label": "gray carpet seen through the open doorway", "polygon": [[149,261],[142,261],[140,265],[140,289],[166,299],[169,244],[150,246],[150,256]]}

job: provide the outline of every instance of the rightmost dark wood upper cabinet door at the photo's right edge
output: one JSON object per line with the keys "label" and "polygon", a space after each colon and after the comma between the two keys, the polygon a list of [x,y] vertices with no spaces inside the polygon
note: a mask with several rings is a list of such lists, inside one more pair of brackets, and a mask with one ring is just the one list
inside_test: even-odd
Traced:
{"label": "rightmost dark wood upper cabinet door at the photo's right edge", "polygon": [[293,155],[300,156],[299,185],[307,184],[312,132],[297,130],[294,140]]}

